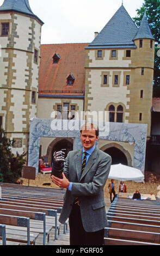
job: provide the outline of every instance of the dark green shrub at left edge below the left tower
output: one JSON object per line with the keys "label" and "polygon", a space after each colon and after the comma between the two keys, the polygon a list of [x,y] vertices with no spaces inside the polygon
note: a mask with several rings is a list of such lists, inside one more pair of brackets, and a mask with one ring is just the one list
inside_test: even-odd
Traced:
{"label": "dark green shrub at left edge below the left tower", "polygon": [[5,137],[4,130],[0,129],[0,182],[16,183],[21,177],[26,153],[14,156],[11,153],[13,143],[14,141]]}

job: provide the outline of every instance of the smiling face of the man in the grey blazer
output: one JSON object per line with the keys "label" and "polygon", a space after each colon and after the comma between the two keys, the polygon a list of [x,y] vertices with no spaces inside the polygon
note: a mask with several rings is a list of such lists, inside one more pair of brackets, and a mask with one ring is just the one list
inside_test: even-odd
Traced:
{"label": "smiling face of the man in the grey blazer", "polygon": [[87,151],[94,146],[95,142],[99,139],[99,136],[96,137],[95,130],[82,130],[80,138],[84,150]]}

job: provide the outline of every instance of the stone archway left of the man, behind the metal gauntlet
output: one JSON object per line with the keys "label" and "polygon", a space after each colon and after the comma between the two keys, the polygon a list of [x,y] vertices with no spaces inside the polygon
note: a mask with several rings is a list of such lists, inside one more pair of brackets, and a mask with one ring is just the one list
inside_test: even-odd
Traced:
{"label": "stone archway left of the man, behind the metal gauntlet", "polygon": [[73,150],[73,139],[72,138],[56,138],[54,139],[47,148],[47,156],[49,165],[52,166],[53,152],[59,151],[60,149],[66,148],[66,155],[69,151]]}

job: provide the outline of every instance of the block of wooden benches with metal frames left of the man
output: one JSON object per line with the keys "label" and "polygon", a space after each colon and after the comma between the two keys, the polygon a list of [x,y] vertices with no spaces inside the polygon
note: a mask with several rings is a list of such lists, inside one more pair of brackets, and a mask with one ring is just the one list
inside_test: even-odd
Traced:
{"label": "block of wooden benches with metal frames left of the man", "polygon": [[[57,239],[64,190],[1,183],[0,186],[0,224],[5,225],[2,225],[3,236],[0,231],[0,244],[6,240],[7,245],[11,242],[34,245],[42,234],[45,245],[46,236],[49,241],[52,228],[54,240]],[[67,223],[64,224],[64,233],[66,228]]]}

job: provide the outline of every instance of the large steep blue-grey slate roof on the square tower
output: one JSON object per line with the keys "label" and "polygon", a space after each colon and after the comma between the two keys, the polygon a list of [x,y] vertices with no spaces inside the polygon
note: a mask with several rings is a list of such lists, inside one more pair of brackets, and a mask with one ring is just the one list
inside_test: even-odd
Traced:
{"label": "large steep blue-grey slate roof on the square tower", "polygon": [[89,48],[136,48],[133,38],[137,29],[122,4],[112,19],[89,44]]}

